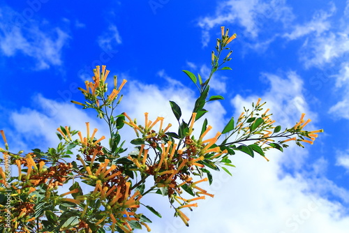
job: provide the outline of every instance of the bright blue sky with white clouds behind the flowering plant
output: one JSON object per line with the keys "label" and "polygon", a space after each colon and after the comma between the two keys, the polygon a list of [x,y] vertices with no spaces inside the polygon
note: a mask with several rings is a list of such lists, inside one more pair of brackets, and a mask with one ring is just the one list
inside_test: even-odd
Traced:
{"label": "bright blue sky with white clouds behind the flowering plant", "polygon": [[[262,98],[283,126],[302,112],[325,133],[306,149],[232,160],[216,174],[212,200],[199,203],[191,227],[172,218],[167,200],[153,232],[348,232],[349,1],[73,1],[0,3],[0,128],[13,150],[57,144],[59,126],[107,129],[94,112],[70,103],[96,65],[128,80],[119,112],[171,121],[168,100],[190,116],[221,26],[237,33],[230,67],[214,77],[209,121],[222,130]],[[128,136],[126,136],[128,140]],[[131,139],[131,138],[130,138]],[[145,198],[145,197],[144,197]],[[152,217],[152,216],[151,216]]]}

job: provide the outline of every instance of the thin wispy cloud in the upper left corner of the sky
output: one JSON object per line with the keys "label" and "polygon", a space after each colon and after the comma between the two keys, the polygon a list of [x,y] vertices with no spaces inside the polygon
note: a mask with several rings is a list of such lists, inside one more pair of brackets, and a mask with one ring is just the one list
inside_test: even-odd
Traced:
{"label": "thin wispy cloud in the upper left corner of the sky", "polygon": [[47,30],[47,22],[39,24],[28,19],[27,24],[12,24],[11,20],[18,14],[11,8],[0,10],[0,51],[3,55],[13,57],[22,53],[32,57],[38,69],[61,65],[62,48],[69,39],[66,32],[59,27]]}

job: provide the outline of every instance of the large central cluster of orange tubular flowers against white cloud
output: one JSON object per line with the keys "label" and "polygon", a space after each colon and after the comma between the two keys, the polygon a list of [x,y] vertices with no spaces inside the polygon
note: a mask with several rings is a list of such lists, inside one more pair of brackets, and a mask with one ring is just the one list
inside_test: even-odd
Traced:
{"label": "large central cluster of orange tubular flowers against white cloud", "polygon": [[[214,195],[207,193],[206,190],[198,186],[198,183],[208,181],[207,177],[200,179],[199,181],[193,181],[194,174],[192,171],[195,170],[196,167],[205,167],[205,165],[200,163],[200,161],[204,160],[205,157],[213,159],[227,152],[226,150],[221,151],[219,146],[214,146],[221,133],[218,132],[215,137],[204,140],[205,135],[207,135],[209,130],[211,130],[211,126],[207,127],[198,140],[195,140],[195,137],[191,137],[196,114],[196,112],[192,114],[191,119],[193,120],[188,128],[188,133],[185,137],[184,143],[182,146],[179,146],[179,144],[174,143],[171,140],[166,140],[167,137],[165,133],[171,125],[169,124],[165,129],[163,129],[163,117],[158,117],[156,121],[152,122],[149,121],[148,113],[146,112],[144,114],[144,126],[138,126],[136,125],[135,120],[131,120],[131,118],[124,113],[126,118],[129,120],[125,121],[125,123],[128,126],[131,126],[138,136],[142,133],[141,139],[144,140],[144,144],[140,145],[138,155],[128,155],[128,159],[135,165],[134,170],[138,170],[141,174],[154,176],[154,187],[165,188],[166,194],[170,198],[170,202],[172,203],[175,200],[180,204],[180,206],[174,208],[176,215],[179,216],[186,225],[188,225],[189,219],[181,209],[198,206],[197,203],[189,204],[189,202],[205,199],[205,195],[214,197]],[[152,130],[152,128],[156,126],[156,123],[160,123],[157,132]],[[149,146],[149,148],[145,149],[146,146]],[[151,163],[152,160],[149,159],[150,148],[159,150],[156,155],[156,160],[154,160],[153,163]],[[197,197],[189,200],[184,199],[181,197],[183,189]]]}

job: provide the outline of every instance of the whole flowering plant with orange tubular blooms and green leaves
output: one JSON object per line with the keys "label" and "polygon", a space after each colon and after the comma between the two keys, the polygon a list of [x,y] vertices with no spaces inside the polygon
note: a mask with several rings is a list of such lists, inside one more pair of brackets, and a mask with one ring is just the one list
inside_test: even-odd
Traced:
{"label": "whole flowering plant with orange tubular blooms and green leaves", "polygon": [[[228,36],[228,29],[221,28],[216,51],[211,53],[211,73],[206,80],[183,70],[198,87],[199,96],[194,103],[190,119],[182,119],[181,108],[170,101],[170,106],[179,126],[164,125],[163,117],[153,121],[144,113],[144,125],[128,116],[126,112],[114,114],[119,105],[123,80],[111,92],[107,88],[109,70],[96,66],[92,81],[85,82],[85,89],[79,88],[86,101],[79,103],[83,108],[96,110],[98,118],[104,119],[110,130],[109,143],[101,144],[105,136],[96,138],[97,129],[91,133],[89,123],[87,135],[68,126],[57,128],[61,140],[57,148],[46,152],[34,149],[24,154],[10,152],[3,130],[0,130],[5,149],[0,167],[0,230],[3,232],[133,232],[145,227],[150,232],[151,220],[140,213],[145,206],[161,217],[153,207],[142,202],[142,197],[155,193],[168,197],[174,216],[188,225],[184,209],[198,206],[198,201],[214,197],[200,188],[200,183],[213,182],[211,170],[234,167],[230,156],[237,152],[249,156],[259,154],[265,157],[269,149],[283,151],[286,142],[295,141],[313,144],[317,133],[323,130],[304,130],[310,119],[304,121],[302,114],[292,128],[281,130],[274,126],[269,109],[263,110],[260,99],[252,103],[235,119],[232,117],[221,132],[207,138],[212,130],[207,119],[198,125],[198,119],[207,114],[205,105],[209,101],[223,100],[223,96],[209,96],[209,84],[218,70],[230,70],[223,64],[230,61],[232,51],[221,57],[227,45],[236,38]],[[109,93],[109,94],[108,94]],[[135,133],[131,144],[136,153],[125,153],[120,129],[129,127]],[[197,131],[198,133],[193,133]],[[72,149],[77,147],[75,156]],[[69,163],[66,160],[70,161]],[[17,175],[8,176],[10,165],[17,167]],[[154,182],[146,183],[150,178]],[[82,183],[84,186],[82,187]],[[61,193],[59,187],[70,186]],[[87,190],[89,191],[83,191]]]}

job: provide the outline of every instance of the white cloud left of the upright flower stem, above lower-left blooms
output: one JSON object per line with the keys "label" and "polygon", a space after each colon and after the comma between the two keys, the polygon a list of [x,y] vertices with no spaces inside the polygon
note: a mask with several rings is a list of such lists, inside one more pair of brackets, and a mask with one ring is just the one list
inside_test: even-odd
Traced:
{"label": "white cloud left of the upright flower stem, above lower-left blooms", "polygon": [[[23,107],[20,111],[10,114],[10,121],[13,123],[15,134],[13,137],[22,138],[22,146],[29,149],[28,145],[35,148],[47,149],[54,147],[59,142],[56,135],[59,126],[71,126],[72,130],[86,132],[85,122],[90,122],[91,128],[98,128],[96,137],[101,137],[107,132],[102,126],[102,120],[91,118],[86,111],[80,110],[73,103],[60,103],[47,99],[41,95],[33,97],[36,109]],[[93,113],[92,116],[95,114]],[[13,142],[16,142],[13,138]],[[32,148],[31,148],[32,149]]]}

